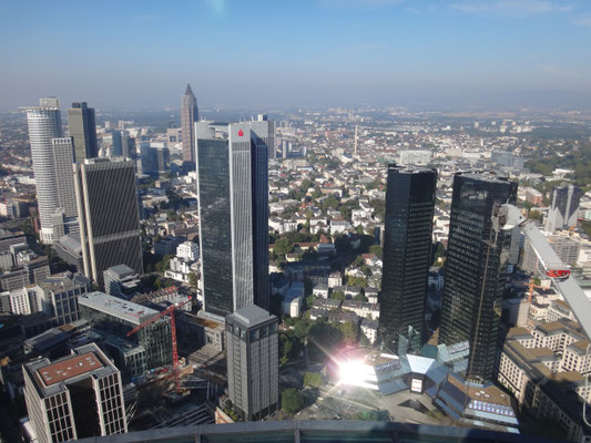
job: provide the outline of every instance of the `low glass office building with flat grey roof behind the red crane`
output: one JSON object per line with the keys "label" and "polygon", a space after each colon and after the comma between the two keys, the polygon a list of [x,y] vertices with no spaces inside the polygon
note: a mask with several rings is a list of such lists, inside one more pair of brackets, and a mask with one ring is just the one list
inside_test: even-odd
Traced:
{"label": "low glass office building with flat grey roof behind the red crane", "polygon": [[[118,337],[126,343],[125,353],[132,348],[145,359],[147,369],[172,363],[172,339],[169,317],[161,317],[151,324],[126,337],[128,332],[159,311],[133,303],[104,292],[89,292],[78,299],[80,318],[88,320],[101,332]],[[124,358],[124,356],[120,356]]]}

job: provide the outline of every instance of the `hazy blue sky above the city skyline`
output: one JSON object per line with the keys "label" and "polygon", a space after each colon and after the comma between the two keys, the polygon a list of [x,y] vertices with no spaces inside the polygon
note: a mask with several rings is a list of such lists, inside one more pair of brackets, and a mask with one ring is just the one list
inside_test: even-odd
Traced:
{"label": "hazy blue sky above the city skyline", "polygon": [[589,0],[0,0],[0,107],[591,107]]}

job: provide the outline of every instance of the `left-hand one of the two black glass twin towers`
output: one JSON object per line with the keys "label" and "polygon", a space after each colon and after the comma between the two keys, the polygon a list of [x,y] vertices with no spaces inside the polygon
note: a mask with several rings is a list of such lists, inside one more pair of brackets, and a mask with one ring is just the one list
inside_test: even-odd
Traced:
{"label": "left-hand one of the two black glass twin towers", "polygon": [[388,166],[379,329],[391,352],[425,342],[436,182],[435,169]]}

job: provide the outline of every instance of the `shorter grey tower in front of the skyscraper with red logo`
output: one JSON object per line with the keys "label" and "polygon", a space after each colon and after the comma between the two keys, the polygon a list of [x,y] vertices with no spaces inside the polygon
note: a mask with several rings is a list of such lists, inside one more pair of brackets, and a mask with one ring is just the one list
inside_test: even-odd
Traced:
{"label": "shorter grey tower in front of the skyscraper with red logo", "polygon": [[279,402],[277,318],[255,305],[226,317],[230,400],[245,420],[258,421]]}

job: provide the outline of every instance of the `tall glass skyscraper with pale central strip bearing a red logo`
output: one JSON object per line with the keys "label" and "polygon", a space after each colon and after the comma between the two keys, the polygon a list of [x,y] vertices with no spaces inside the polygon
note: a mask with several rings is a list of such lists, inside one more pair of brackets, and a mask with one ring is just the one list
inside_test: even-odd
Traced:
{"label": "tall glass skyscraper with pale central strip bearing a red logo", "polygon": [[268,309],[268,152],[252,122],[195,123],[205,310]]}

